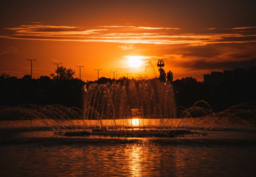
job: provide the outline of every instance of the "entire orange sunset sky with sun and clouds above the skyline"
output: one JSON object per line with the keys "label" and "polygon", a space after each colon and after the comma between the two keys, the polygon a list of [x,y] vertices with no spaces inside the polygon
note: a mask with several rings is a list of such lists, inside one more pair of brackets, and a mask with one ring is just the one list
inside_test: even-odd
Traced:
{"label": "entire orange sunset sky with sun and clouds above the skyline", "polygon": [[[136,78],[157,61],[174,78],[252,66],[256,1],[1,1],[0,70],[50,75],[53,63],[82,80]],[[256,60],[255,60],[256,65]]]}

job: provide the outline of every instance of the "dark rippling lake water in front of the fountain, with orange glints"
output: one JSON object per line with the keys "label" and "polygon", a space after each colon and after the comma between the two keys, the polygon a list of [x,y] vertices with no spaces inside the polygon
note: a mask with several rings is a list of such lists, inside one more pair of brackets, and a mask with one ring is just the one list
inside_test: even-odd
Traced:
{"label": "dark rippling lake water in front of the fountain, with orange glints", "polygon": [[0,176],[255,176],[255,120],[247,122],[229,119],[207,136],[74,138],[0,121]]}

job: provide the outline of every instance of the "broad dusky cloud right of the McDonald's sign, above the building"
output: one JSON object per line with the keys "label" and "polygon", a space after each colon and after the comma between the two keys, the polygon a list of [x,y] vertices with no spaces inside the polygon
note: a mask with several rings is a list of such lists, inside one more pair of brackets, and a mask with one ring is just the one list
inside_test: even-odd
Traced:
{"label": "broad dusky cloud right of the McDonald's sign, above the building", "polygon": [[246,68],[256,58],[255,45],[256,43],[222,43],[195,47],[179,45],[170,48],[171,54],[163,55],[163,60],[173,73],[182,74],[182,77],[196,77],[197,74],[210,74],[211,71],[233,70],[233,66]]}

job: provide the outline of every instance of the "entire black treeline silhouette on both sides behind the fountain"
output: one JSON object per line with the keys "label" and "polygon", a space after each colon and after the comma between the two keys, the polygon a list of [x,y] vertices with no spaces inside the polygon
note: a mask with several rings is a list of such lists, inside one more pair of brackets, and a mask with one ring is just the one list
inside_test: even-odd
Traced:
{"label": "entire black treeline silhouette on both sides behind the fountain", "polygon": [[[58,77],[57,77],[58,72]],[[55,74],[41,76],[39,79],[31,79],[31,75],[25,75],[22,79],[11,77],[7,74],[0,75],[0,104],[1,105],[20,105],[20,104],[61,104],[67,107],[78,107],[83,109],[84,87],[90,84],[120,83],[121,85],[134,82],[137,79],[122,77],[110,79],[101,77],[96,81],[82,81],[75,78],[72,69],[61,66],[55,70]],[[191,107],[199,100],[205,100],[210,104],[214,111],[222,111],[235,104],[242,102],[256,102],[255,83],[223,83],[215,88],[209,88],[203,82],[198,82],[192,77],[186,77],[173,81],[172,72],[165,74],[161,71],[159,79],[162,82],[171,82],[176,98],[176,106],[184,108]]]}

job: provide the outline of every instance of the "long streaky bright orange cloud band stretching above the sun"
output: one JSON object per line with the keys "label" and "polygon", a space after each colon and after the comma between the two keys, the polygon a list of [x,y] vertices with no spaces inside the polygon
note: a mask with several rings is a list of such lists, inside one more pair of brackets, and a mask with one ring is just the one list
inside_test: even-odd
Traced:
{"label": "long streaky bright orange cloud band stretching above the sun", "polygon": [[[125,44],[119,46],[123,50],[133,49],[133,45],[138,43],[204,46],[220,43],[254,43],[256,41],[256,32],[246,30],[229,33],[218,33],[216,30],[215,33],[209,33],[207,29],[204,29],[205,33],[182,34],[180,33],[181,30],[169,31],[169,29],[178,28],[165,27],[98,26],[97,28],[84,29],[74,26],[20,25],[14,28],[5,28],[12,30],[13,34],[1,35],[0,37],[21,40],[120,43]],[[154,33],[149,33],[149,30],[154,30]],[[0,54],[3,55],[5,53],[8,53],[8,51],[1,52]]]}

